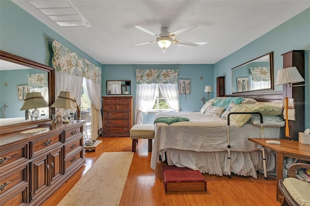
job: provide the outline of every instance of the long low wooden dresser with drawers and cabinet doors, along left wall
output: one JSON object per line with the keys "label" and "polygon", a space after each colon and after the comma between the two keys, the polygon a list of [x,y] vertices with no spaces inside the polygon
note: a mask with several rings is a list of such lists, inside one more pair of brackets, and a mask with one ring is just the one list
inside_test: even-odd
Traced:
{"label": "long low wooden dresser with drawers and cabinet doors, along left wall", "polygon": [[83,123],[0,135],[0,205],[41,205],[84,164]]}

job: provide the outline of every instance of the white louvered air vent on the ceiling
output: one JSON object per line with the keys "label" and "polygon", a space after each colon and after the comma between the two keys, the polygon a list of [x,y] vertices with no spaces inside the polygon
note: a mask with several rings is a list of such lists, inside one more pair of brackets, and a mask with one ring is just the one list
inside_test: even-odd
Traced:
{"label": "white louvered air vent on the ceiling", "polygon": [[29,2],[61,27],[90,26],[68,0],[33,0]]}

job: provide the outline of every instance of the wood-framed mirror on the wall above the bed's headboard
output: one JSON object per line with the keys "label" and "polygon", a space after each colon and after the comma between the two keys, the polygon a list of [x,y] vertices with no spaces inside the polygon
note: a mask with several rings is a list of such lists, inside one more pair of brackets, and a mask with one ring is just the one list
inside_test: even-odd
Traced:
{"label": "wood-framed mirror on the wall above the bed's headboard", "polygon": [[233,93],[273,89],[273,52],[232,69]]}

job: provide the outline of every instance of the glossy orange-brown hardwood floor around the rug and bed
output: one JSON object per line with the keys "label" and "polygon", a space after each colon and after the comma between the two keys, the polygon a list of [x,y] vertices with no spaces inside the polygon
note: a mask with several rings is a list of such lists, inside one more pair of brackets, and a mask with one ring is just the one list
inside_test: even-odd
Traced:
{"label": "glossy orange-brown hardwood floor around the rug and bed", "polygon": [[[105,137],[102,146],[96,151],[86,151],[86,164],[73,177],[65,182],[46,202],[45,206],[55,206],[68,191],[87,172],[103,152],[131,151],[129,137]],[[170,192],[165,193],[161,178],[161,166],[156,170],[150,168],[151,153],[148,153],[147,139],[140,139],[134,154],[120,206],[279,206],[276,200],[276,179],[228,177],[208,175],[206,192]],[[87,187],[87,185],[86,185]],[[81,191],[83,195],[83,191]],[[104,200],[97,206],[105,206]]]}

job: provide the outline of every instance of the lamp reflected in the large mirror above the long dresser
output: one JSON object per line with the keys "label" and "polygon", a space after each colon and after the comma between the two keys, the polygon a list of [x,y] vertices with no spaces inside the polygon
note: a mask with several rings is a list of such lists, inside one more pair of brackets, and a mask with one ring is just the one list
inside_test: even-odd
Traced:
{"label": "lamp reflected in the large mirror above the long dresser", "polygon": [[[31,114],[31,118],[37,120],[39,117],[39,110],[37,108],[48,107],[47,101],[45,101],[44,97],[42,96],[41,92],[29,92],[26,94],[25,102],[20,110],[26,110],[25,118],[28,119],[28,114]],[[31,112],[30,109],[33,109]]]}

